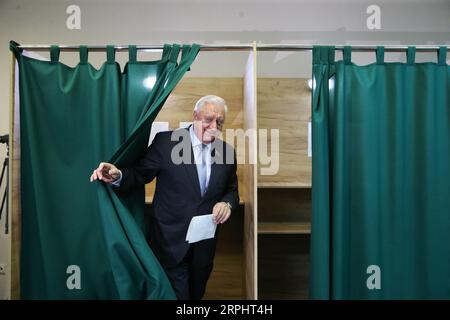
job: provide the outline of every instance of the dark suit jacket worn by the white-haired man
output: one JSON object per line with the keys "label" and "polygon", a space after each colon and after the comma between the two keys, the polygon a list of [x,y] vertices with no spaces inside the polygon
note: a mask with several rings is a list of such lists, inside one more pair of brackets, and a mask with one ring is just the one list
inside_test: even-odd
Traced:
{"label": "dark suit jacket worn by the white-haired man", "polygon": [[[217,202],[229,202],[233,211],[239,204],[234,149],[222,140],[213,142],[210,180],[201,197],[189,130],[176,130],[181,137],[175,141],[171,141],[172,132],[158,133],[133,167],[121,169],[122,181],[117,188],[118,192],[127,192],[157,177],[149,242],[164,267],[177,265],[186,255],[190,247],[186,233],[193,216],[211,214]],[[184,157],[185,161],[174,163],[172,153]],[[216,240],[217,232],[215,238],[194,244],[194,266],[207,266],[213,262]]]}

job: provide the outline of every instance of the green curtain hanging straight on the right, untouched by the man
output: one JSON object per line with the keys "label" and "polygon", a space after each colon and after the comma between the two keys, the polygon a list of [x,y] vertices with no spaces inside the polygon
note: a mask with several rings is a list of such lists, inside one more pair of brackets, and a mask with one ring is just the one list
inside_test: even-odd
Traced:
{"label": "green curtain hanging straight on the right, untouched by the man", "polygon": [[[313,299],[450,299],[450,68],[313,50]],[[378,270],[376,270],[379,268]],[[378,281],[379,280],[379,281]]]}

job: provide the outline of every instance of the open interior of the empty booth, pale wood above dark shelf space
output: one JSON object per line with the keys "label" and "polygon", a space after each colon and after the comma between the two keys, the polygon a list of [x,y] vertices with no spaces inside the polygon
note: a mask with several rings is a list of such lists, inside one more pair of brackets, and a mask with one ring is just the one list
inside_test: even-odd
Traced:
{"label": "open interior of the empty booth, pale wood above dark shelf space", "polygon": [[260,170],[258,175],[258,296],[261,299],[308,298],[311,95],[306,81],[258,79],[258,129],[279,130],[278,172],[262,175]]}

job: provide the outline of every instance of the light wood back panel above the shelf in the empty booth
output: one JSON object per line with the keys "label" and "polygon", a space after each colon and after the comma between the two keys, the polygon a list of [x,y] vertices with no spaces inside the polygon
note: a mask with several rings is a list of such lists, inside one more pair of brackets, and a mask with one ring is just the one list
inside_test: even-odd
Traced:
{"label": "light wood back panel above the shelf in the empty booth", "polygon": [[[308,157],[308,122],[311,93],[307,79],[258,79],[258,130],[279,130],[279,170],[274,175],[258,172],[260,187],[310,187],[311,158]],[[270,149],[269,149],[270,154]],[[264,166],[260,164],[260,169]]]}

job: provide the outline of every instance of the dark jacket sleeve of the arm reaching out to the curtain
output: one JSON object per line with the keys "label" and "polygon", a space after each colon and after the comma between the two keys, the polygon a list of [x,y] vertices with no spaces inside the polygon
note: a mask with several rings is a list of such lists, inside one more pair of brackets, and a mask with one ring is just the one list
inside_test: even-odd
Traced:
{"label": "dark jacket sleeve of the arm reaching out to the curtain", "polygon": [[114,190],[118,193],[129,192],[151,182],[159,174],[162,162],[161,142],[161,135],[158,133],[144,155],[133,166],[120,169],[122,180],[120,186]]}

